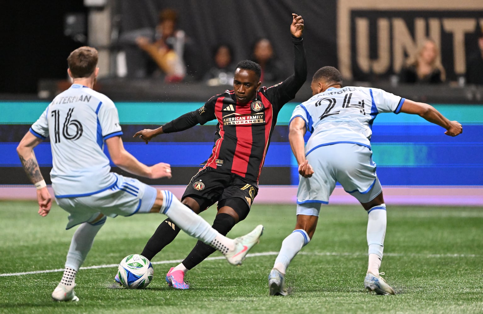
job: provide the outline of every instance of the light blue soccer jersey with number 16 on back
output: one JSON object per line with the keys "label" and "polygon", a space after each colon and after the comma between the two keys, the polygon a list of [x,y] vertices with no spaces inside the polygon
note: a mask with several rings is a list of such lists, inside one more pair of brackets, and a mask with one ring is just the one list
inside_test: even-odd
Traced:
{"label": "light blue soccer jersey with number 16 on back", "polygon": [[122,135],[114,102],[86,86],[72,84],[47,106],[30,132],[50,137],[52,188],[57,198],[87,196],[115,185],[104,141]]}

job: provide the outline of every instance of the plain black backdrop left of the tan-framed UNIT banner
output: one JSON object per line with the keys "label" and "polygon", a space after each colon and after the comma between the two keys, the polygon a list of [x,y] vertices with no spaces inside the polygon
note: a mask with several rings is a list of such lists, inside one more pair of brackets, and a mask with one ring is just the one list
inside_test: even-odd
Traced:
{"label": "plain black backdrop left of the tan-framed UNIT banner", "polygon": [[[176,10],[178,26],[191,39],[194,50],[187,60],[191,61],[188,71],[198,77],[211,66],[216,44],[230,43],[238,62],[250,58],[252,45],[262,37],[272,41],[277,57],[286,66],[285,74],[293,73],[292,13],[302,15],[305,21],[309,76],[322,66],[337,66],[335,0],[122,0],[117,5],[121,35],[142,27],[154,28],[160,10]],[[135,63],[135,58],[130,62]]]}

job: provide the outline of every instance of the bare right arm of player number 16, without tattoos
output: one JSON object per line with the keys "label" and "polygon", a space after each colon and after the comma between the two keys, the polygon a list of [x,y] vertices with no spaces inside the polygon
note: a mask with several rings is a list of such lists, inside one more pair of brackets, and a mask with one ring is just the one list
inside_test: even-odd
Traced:
{"label": "bare right arm of player number 16, without tattoos", "polygon": [[169,164],[159,163],[147,166],[141,163],[136,157],[124,149],[121,137],[110,137],[106,139],[106,145],[113,163],[133,175],[148,177],[150,179],[171,177],[171,166]]}

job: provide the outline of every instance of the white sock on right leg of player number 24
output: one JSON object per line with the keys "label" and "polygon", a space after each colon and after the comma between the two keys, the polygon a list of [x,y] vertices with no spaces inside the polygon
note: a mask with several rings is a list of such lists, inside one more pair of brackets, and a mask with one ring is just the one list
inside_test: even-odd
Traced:
{"label": "white sock on right leg of player number 24", "polygon": [[386,205],[381,204],[368,210],[367,245],[369,247],[368,272],[379,275],[386,234]]}

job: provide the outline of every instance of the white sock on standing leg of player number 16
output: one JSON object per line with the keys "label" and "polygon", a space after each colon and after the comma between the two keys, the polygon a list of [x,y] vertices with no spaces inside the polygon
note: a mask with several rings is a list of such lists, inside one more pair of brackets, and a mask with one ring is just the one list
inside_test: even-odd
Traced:
{"label": "white sock on standing leg of player number 16", "polygon": [[69,267],[75,271],[79,271],[79,268],[84,263],[87,253],[89,253],[92,244],[94,243],[94,237],[100,228],[104,225],[106,221],[102,218],[99,223],[95,226],[84,222],[79,228],[74,232],[71,240],[71,246],[69,247],[69,252],[67,252],[67,259],[65,262],[65,267]]}

